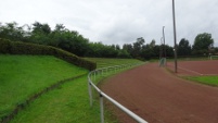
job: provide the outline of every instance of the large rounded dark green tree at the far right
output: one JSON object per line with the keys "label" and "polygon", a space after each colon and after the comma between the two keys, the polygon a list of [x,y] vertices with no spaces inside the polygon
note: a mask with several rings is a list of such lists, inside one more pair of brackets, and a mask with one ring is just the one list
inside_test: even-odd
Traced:
{"label": "large rounded dark green tree at the far right", "polygon": [[208,53],[208,48],[214,46],[214,39],[211,38],[211,34],[198,34],[195,37],[193,45],[193,53],[194,54],[204,54]]}

